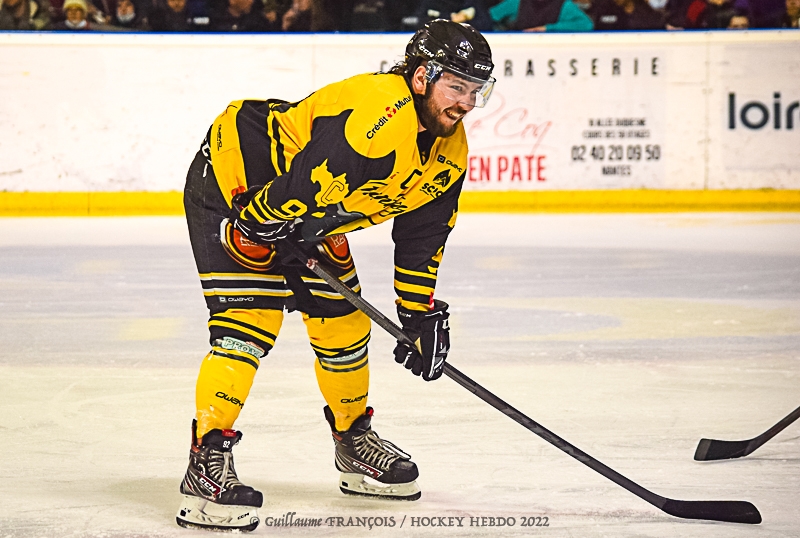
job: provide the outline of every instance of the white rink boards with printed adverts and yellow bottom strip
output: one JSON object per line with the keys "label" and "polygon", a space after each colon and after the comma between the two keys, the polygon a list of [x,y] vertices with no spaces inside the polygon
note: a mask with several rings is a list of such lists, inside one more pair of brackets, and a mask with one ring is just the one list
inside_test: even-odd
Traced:
{"label": "white rink boards with printed adverts and yellow bottom strip", "polygon": [[[488,37],[465,209],[800,207],[800,33]],[[227,103],[386,70],[407,38],[0,34],[0,214],[180,212]]]}

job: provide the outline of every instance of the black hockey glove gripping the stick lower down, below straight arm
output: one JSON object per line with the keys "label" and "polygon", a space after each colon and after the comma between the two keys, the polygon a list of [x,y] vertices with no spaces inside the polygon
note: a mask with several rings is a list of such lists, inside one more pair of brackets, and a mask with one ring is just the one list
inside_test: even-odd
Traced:
{"label": "black hockey glove gripping the stick lower down, below straight arm", "polygon": [[397,343],[394,348],[395,362],[402,364],[414,375],[422,375],[425,381],[439,379],[444,371],[444,361],[450,351],[450,314],[447,303],[435,300],[433,309],[427,312],[397,307],[397,317],[403,324],[403,332],[416,344],[412,348]]}

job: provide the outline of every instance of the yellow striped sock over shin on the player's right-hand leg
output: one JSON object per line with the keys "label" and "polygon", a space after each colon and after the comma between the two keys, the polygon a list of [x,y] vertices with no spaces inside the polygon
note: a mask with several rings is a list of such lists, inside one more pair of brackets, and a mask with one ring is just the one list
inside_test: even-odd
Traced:
{"label": "yellow striped sock over shin on the player's right-hand leg", "polygon": [[347,430],[367,409],[369,318],[357,311],[340,318],[303,314],[303,321],[317,355],[319,389],[333,411],[336,429]]}

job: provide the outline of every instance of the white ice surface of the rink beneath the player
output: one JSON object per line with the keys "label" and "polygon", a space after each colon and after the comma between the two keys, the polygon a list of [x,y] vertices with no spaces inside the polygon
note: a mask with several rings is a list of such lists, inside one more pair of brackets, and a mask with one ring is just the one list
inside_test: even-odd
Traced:
{"label": "white ice surface of the rink beneath the player", "polygon": [[[387,313],[389,233],[351,236]],[[254,536],[800,536],[800,422],[746,458],[692,461],[701,437],[750,438],[800,405],[800,214],[465,214],[437,296],[464,373],[658,494],[748,500],[764,522],[660,512],[452,381],[409,375],[377,327],[373,425],[413,455],[423,497],[345,497],[292,314],[236,425],[239,476],[262,520],[396,526]],[[0,538],[208,535],[174,522],[205,319],[180,218],[0,219]],[[410,527],[439,516],[467,526]]]}

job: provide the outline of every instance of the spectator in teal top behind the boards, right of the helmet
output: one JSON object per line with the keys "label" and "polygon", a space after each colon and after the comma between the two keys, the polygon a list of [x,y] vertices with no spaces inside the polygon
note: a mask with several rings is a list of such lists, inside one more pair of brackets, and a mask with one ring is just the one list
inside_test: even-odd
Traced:
{"label": "spectator in teal top behind the boards, right of the helmet", "polygon": [[592,19],[572,0],[503,0],[489,13],[499,29],[523,32],[589,32]]}

